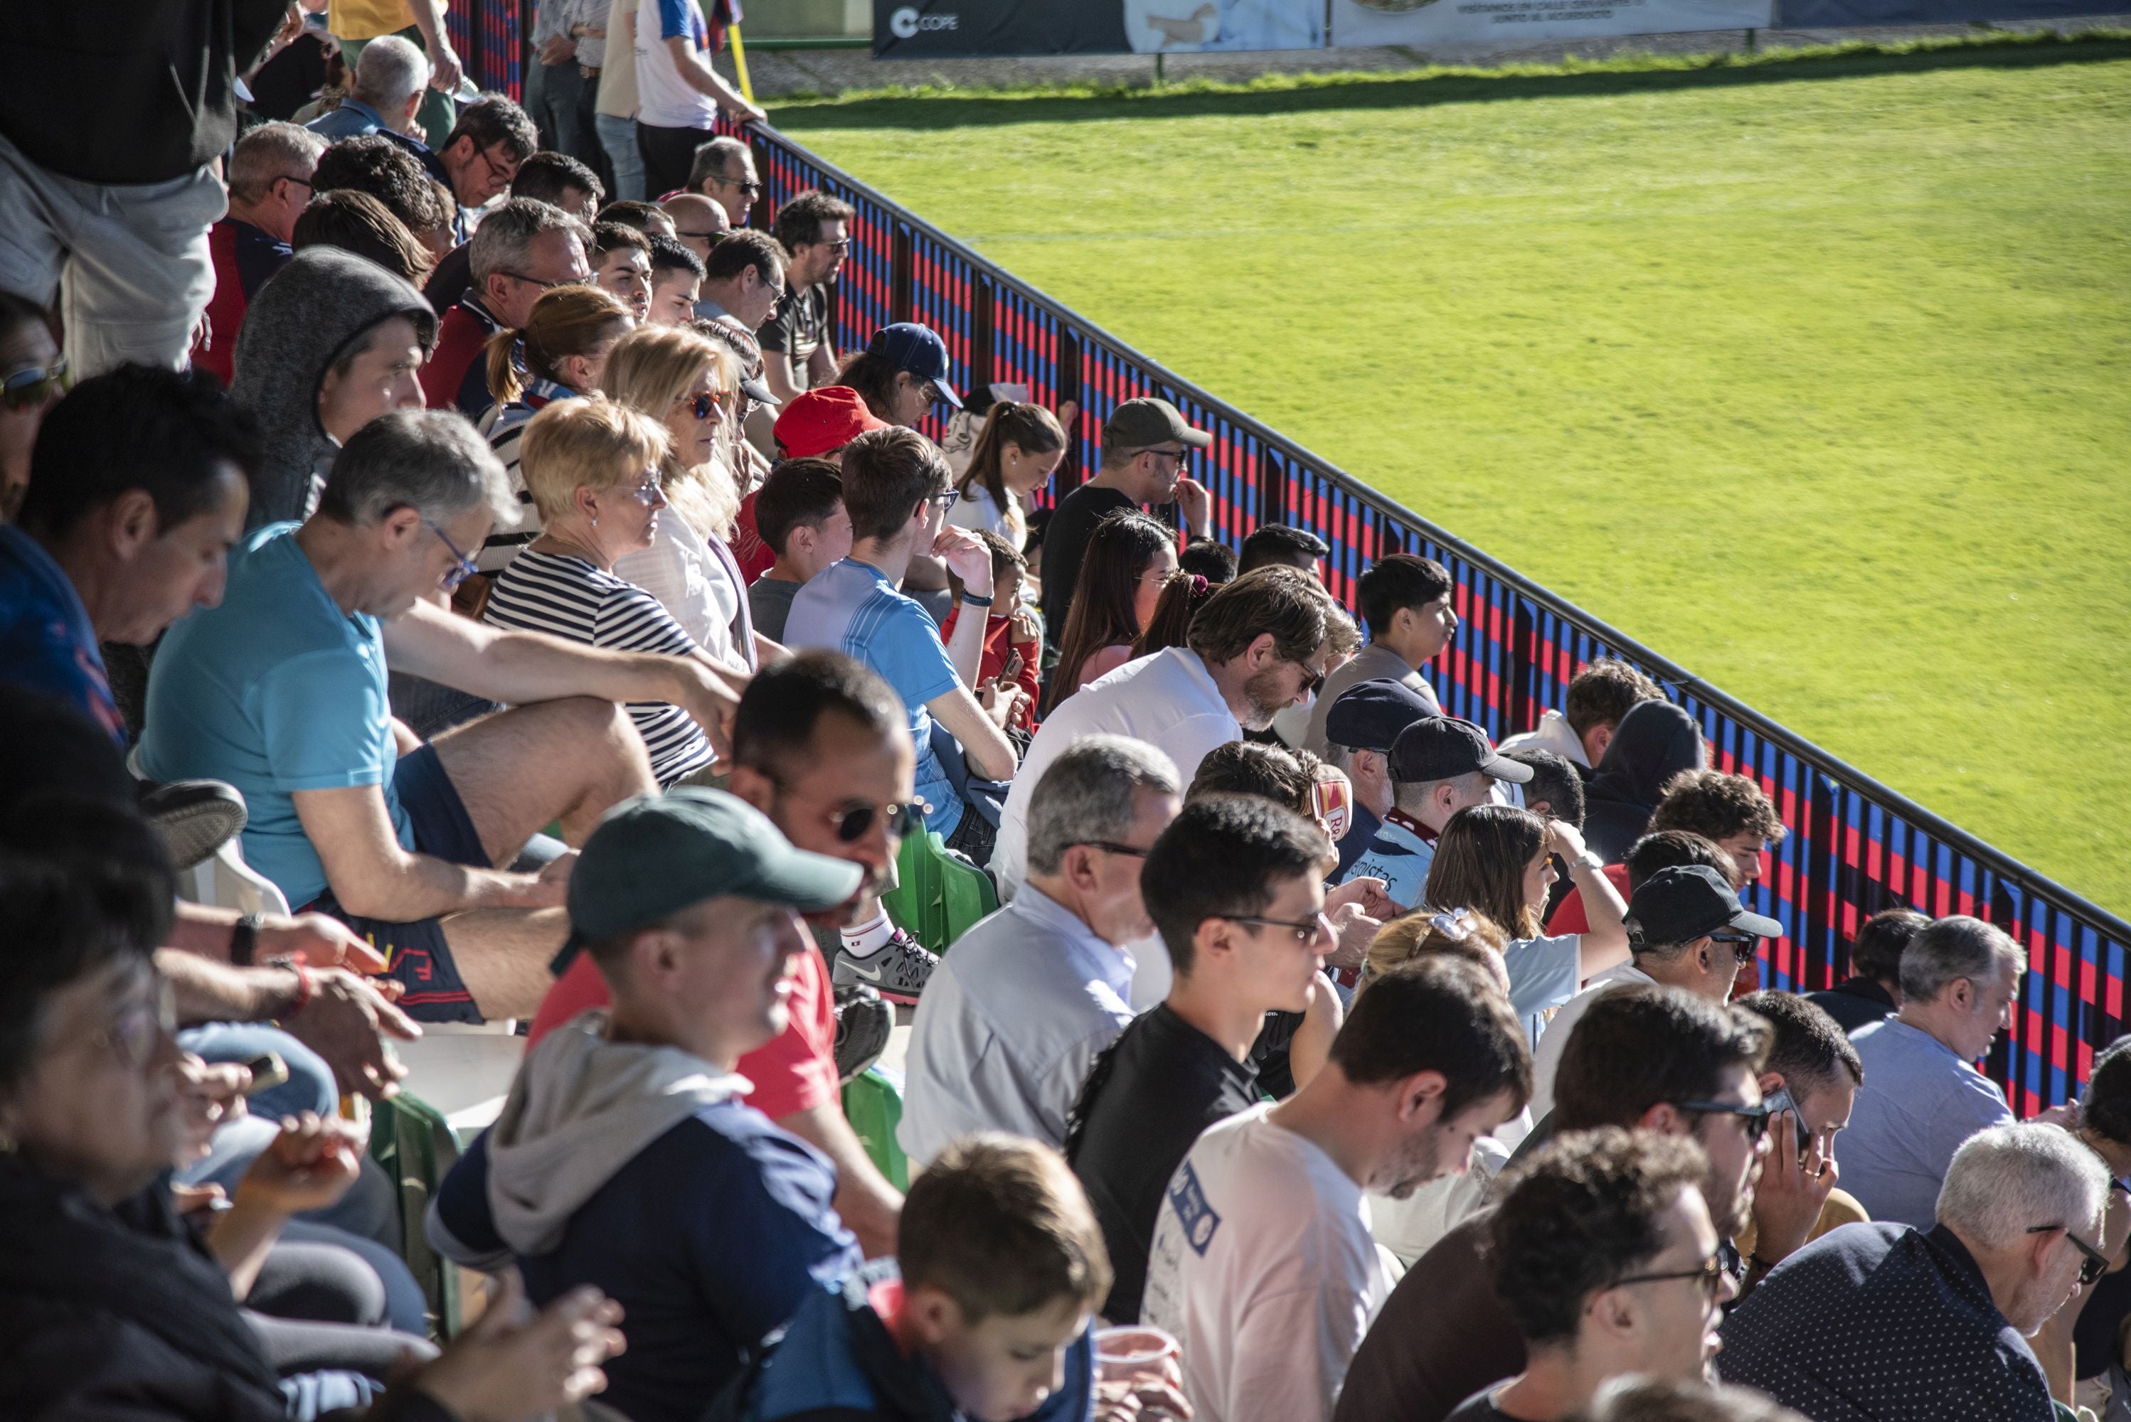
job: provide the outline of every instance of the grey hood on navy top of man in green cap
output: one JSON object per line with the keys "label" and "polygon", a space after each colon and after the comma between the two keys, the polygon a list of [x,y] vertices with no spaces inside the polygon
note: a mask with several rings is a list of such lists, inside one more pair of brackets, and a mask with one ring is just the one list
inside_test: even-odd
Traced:
{"label": "grey hood on navy top of man in green cap", "polygon": [[548,1254],[569,1218],[637,1152],[746,1077],[680,1047],[607,1041],[607,1013],[548,1032],[488,1132],[488,1209],[516,1254]]}

